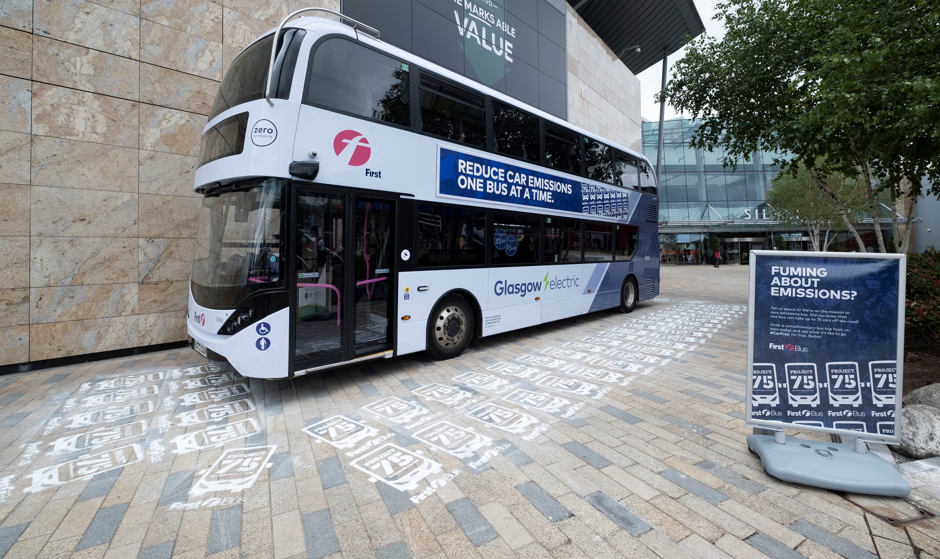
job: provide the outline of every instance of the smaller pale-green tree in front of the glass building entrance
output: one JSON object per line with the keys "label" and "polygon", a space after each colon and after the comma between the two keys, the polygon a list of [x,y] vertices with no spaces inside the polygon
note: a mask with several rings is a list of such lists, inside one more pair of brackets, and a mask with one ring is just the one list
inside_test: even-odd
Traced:
{"label": "smaller pale-green tree in front of the glass building entrance", "polygon": [[830,233],[838,232],[841,215],[828,192],[835,194],[850,222],[857,219],[866,200],[865,187],[857,178],[832,173],[822,179],[825,190],[818,187],[806,167],[777,175],[767,191],[767,202],[774,208],[774,217],[789,228],[806,229],[813,250],[829,246]]}

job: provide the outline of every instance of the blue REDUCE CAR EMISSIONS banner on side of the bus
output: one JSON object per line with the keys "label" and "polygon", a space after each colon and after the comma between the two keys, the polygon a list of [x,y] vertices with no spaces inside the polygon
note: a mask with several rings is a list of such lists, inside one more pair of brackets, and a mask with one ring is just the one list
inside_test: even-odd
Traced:
{"label": "blue REDUCE CAR EMISSIONS banner on side of the bus", "polygon": [[630,193],[613,186],[587,184],[443,146],[438,146],[438,152],[437,192],[441,196],[618,219],[630,216]]}

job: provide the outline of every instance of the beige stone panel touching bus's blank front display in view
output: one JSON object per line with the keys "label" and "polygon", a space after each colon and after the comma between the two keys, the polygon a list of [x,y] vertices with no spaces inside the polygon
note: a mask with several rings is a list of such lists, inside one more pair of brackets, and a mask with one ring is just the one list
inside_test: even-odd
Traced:
{"label": "beige stone panel touching bus's blank front display in view", "polygon": [[203,115],[142,104],[140,147],[155,152],[196,156],[206,120]]}

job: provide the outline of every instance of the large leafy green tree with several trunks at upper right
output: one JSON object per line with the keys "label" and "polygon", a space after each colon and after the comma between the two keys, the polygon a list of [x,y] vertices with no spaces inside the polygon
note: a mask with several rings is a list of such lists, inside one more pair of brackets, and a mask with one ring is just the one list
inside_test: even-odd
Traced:
{"label": "large leafy green tree with several trunks at upper right", "polygon": [[[936,0],[728,0],[722,40],[690,42],[666,87],[669,103],[702,120],[692,145],[722,145],[726,165],[752,152],[803,164],[854,234],[828,188],[861,174],[879,248],[878,193],[912,219],[920,179],[940,196],[940,7]],[[896,250],[906,251],[892,212]]]}

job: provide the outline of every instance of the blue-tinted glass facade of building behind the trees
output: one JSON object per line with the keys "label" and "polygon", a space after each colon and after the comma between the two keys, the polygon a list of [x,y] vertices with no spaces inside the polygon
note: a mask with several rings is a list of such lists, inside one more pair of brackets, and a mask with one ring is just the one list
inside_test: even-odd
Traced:
{"label": "blue-tinted glass facade of building behind the trees", "polygon": [[[659,188],[660,221],[758,220],[770,217],[766,192],[779,168],[773,154],[756,152],[735,169],[722,167],[724,152],[689,147],[695,120],[666,120],[663,173]],[[659,122],[643,122],[643,154],[656,162]]]}

